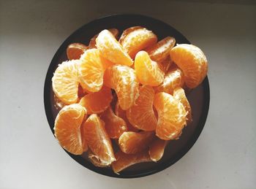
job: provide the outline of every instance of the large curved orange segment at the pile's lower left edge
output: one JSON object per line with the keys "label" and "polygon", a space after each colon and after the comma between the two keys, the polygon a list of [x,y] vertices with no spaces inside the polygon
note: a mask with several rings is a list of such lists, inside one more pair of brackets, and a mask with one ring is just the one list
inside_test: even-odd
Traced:
{"label": "large curved orange segment at the pile's lower left edge", "polygon": [[61,147],[69,153],[79,155],[86,150],[80,134],[80,125],[86,109],[79,104],[67,105],[59,111],[54,123],[54,135]]}

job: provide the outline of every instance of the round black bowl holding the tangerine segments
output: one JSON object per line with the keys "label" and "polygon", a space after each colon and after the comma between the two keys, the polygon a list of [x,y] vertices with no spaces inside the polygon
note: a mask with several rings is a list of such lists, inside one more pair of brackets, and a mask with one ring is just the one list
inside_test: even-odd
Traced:
{"label": "round black bowl holding the tangerine segments", "polygon": [[[174,36],[178,44],[190,43],[186,37],[184,37],[180,32],[176,31],[175,28],[169,26],[167,23],[163,23],[160,20],[149,18],[143,15],[110,15],[104,18],[93,20],[90,23],[82,26],[73,34],[71,34],[62,43],[61,47],[59,47],[59,50],[57,50],[53,60],[50,62],[48,73],[45,78],[45,113],[52,132],[54,127],[54,120],[58,112],[53,106],[54,100],[51,78],[53,77],[53,72],[56,70],[57,65],[62,61],[67,60],[67,46],[73,42],[81,42],[88,45],[91,37],[105,28],[118,28],[118,30],[122,32],[125,28],[129,28],[131,26],[146,27],[149,30],[154,31],[154,34],[157,34],[159,39],[162,39],[165,36]],[[206,117],[208,115],[208,107],[210,101],[208,78],[206,77],[206,79],[203,80],[203,82],[197,88],[192,90],[187,97],[189,99],[189,103],[192,106],[193,122],[184,128],[180,139],[173,140],[170,142],[170,144],[167,145],[163,158],[157,163],[139,163],[135,166],[129,167],[128,169],[125,169],[124,171],[121,171],[120,174],[115,174],[110,168],[99,168],[94,166],[90,161],[88,161],[86,155],[72,155],[67,151],[66,152],[70,155],[71,158],[80,163],[82,166],[85,166],[87,169],[110,177],[145,177],[149,174],[162,171],[163,169],[166,169],[181,159],[182,156],[189,151],[192,145],[195,144],[198,136],[203,130],[203,126],[206,123]]]}

